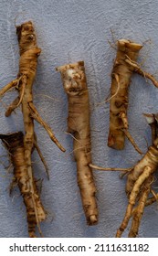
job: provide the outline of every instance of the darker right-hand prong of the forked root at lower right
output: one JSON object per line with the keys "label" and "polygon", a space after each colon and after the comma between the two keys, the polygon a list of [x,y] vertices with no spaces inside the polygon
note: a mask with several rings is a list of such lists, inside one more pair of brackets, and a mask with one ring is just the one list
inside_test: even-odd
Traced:
{"label": "darker right-hand prong of the forked root at lower right", "polygon": [[143,210],[146,206],[146,201],[150,194],[152,181],[153,181],[153,175],[149,176],[147,180],[144,182],[142,193],[141,193],[142,195],[138,201],[138,206],[134,209],[134,212],[132,213],[132,227],[128,235],[129,238],[136,238],[138,235],[138,230],[140,227]]}

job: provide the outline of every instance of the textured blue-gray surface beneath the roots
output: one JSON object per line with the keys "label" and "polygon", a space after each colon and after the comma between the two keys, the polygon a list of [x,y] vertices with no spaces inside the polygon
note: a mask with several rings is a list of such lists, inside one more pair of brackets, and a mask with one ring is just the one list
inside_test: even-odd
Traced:
{"label": "textured blue-gray surface beneath the roots", "polygon": [[[19,15],[19,16],[17,16]],[[16,18],[17,16],[17,18]],[[144,43],[139,61],[143,68],[158,78],[158,5],[149,0],[65,0],[65,1],[0,1],[0,86],[16,78],[18,45],[16,24],[33,20],[37,31],[37,79],[34,84],[35,104],[41,116],[51,125],[59,141],[67,149],[63,154],[47,133],[36,123],[38,144],[50,169],[47,181],[38,155],[33,155],[36,176],[44,178],[41,198],[47,209],[47,221],[41,228],[45,237],[114,237],[127,206],[124,192],[125,179],[118,173],[94,172],[98,187],[100,221],[88,227],[81,207],[76,183],[76,164],[73,159],[72,138],[66,134],[68,101],[60,75],[55,67],[83,59],[90,90],[91,143],[93,163],[104,166],[129,167],[141,156],[126,141],[121,152],[107,146],[109,103],[96,107],[109,95],[111,69],[116,51],[111,48],[111,29],[115,40],[129,38]],[[146,42],[146,40],[148,40]],[[146,43],[145,43],[146,42]],[[129,103],[130,132],[143,152],[151,144],[150,129],[142,112],[157,112],[158,91],[151,82],[135,75],[132,77]],[[15,98],[8,92],[0,101],[1,133],[23,130],[20,108],[5,118],[5,107]],[[49,98],[48,98],[49,97]],[[147,143],[146,143],[147,142]],[[5,148],[0,149],[0,237],[27,237],[26,213],[22,197],[16,188],[12,197],[8,187],[11,169],[6,170],[8,158]],[[156,189],[157,182],[154,187]],[[158,208],[145,208],[140,237],[158,237]],[[124,236],[127,232],[124,232]]]}

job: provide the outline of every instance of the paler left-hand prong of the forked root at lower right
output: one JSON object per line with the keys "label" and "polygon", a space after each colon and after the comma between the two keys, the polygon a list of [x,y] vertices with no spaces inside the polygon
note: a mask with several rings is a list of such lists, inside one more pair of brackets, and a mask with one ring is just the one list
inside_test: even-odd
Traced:
{"label": "paler left-hand prong of the forked root at lower right", "polygon": [[138,194],[140,193],[140,189],[142,187],[142,184],[150,175],[153,174],[153,172],[154,172],[154,168],[152,168],[152,166],[146,165],[143,168],[142,175],[140,175],[138,177],[138,179],[136,180],[136,182],[135,182],[135,184],[132,188],[132,192],[130,194],[130,197],[129,197],[129,204],[128,204],[128,207],[126,209],[124,219],[121,222],[120,228],[117,230],[116,238],[121,238],[122,232],[124,231],[124,229],[127,228],[129,220],[132,217],[132,208],[134,207],[134,205],[136,203],[136,199],[137,199]]}

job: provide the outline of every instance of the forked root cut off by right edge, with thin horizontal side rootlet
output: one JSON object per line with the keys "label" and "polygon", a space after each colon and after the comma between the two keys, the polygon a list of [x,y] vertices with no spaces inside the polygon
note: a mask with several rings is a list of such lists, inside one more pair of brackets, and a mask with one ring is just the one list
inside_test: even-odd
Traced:
{"label": "forked root cut off by right edge, with thin horizontal side rootlet", "polygon": [[[90,167],[101,171],[123,171],[128,175],[126,183],[126,194],[129,198],[125,216],[117,230],[116,237],[120,238],[124,229],[127,228],[132,218],[132,226],[129,237],[136,237],[140,227],[143,210],[146,206],[158,200],[158,194],[152,189],[153,175],[158,169],[158,115],[144,114],[147,123],[151,126],[153,144],[142,159],[132,168],[110,168],[92,165]],[[153,197],[149,197],[153,193]]]}

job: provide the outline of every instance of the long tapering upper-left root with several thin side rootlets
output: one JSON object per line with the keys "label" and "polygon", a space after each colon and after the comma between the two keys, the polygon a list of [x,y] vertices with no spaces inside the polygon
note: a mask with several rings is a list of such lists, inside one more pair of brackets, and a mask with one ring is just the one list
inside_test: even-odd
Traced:
{"label": "long tapering upper-left root with several thin side rootlets", "polygon": [[[37,72],[37,57],[40,55],[41,49],[37,48],[37,38],[31,21],[16,27],[16,34],[18,37],[20,53],[19,72],[16,80],[12,81],[0,90],[0,95],[3,96],[6,91],[13,87],[16,87],[16,90],[18,91],[18,97],[9,106],[8,110],[5,112],[5,116],[9,116],[17,106],[20,104],[22,105],[24,127],[26,132],[24,139],[25,161],[28,172],[31,175],[31,153],[34,148],[34,118],[36,116],[33,118],[30,105],[33,104],[32,87]],[[39,120],[40,117],[38,116],[37,118]],[[43,125],[43,127],[47,130],[46,123]],[[52,133],[49,127],[48,132],[49,135]],[[62,151],[65,151],[65,149],[58,143],[58,140],[55,138],[54,134],[52,135],[51,139]]]}

